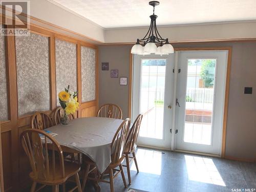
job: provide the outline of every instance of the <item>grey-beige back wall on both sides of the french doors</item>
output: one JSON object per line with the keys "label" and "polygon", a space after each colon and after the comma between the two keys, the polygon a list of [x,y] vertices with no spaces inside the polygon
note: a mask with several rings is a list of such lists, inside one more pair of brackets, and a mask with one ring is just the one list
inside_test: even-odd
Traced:
{"label": "grey-beige back wall on both sides of the french doors", "polygon": [[[227,119],[226,156],[256,160],[256,42],[216,42],[212,44],[176,44],[174,47],[232,47]],[[129,76],[131,45],[99,47],[99,103],[114,102],[128,113],[128,86],[101,71],[101,62],[110,62],[121,76]],[[244,94],[252,87],[252,95]]]}

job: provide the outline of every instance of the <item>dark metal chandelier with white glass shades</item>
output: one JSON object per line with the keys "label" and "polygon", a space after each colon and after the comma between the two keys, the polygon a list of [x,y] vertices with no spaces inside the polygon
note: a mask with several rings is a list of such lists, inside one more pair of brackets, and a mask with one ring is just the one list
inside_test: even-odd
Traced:
{"label": "dark metal chandelier with white glass shades", "polygon": [[174,48],[169,44],[168,38],[162,38],[157,30],[155,6],[158,6],[160,3],[151,1],[148,4],[153,6],[153,15],[150,16],[150,29],[148,29],[146,35],[142,39],[137,39],[131,53],[138,55],[150,55],[151,53],[155,53],[156,55],[168,55],[169,53],[174,53]]}

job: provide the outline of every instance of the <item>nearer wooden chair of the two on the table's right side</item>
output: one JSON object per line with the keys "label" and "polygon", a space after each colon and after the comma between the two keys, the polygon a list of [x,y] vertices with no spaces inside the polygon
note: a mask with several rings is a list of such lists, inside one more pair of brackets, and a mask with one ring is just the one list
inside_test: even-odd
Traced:
{"label": "nearer wooden chair of the two on the table's right side", "polygon": [[[126,136],[127,136],[127,132],[129,131],[130,123],[131,123],[131,119],[127,118],[119,126],[119,128],[112,140],[112,143],[111,143],[111,152],[112,152],[111,163],[100,176],[98,175],[98,177],[97,177],[95,174],[94,178],[88,177],[88,175],[90,173],[93,173],[93,172],[95,172],[95,170],[97,170],[96,169],[97,167],[96,167],[95,162],[93,162],[89,158],[87,158],[85,160],[86,170],[84,172],[84,177],[83,177],[83,182],[82,182],[82,190],[84,190],[84,187],[86,186],[86,181],[87,181],[87,179],[89,179],[89,180],[94,180],[94,181],[99,181],[99,182],[104,182],[104,183],[110,183],[110,190],[111,190],[111,192],[113,192],[114,191],[113,180],[119,173],[121,173],[121,175],[122,175],[124,186],[127,187],[124,173],[123,173],[122,162],[124,160],[123,153],[124,153]],[[117,166],[119,166],[120,169],[116,169]],[[116,174],[114,176],[113,176],[113,170],[116,171]],[[103,180],[103,176],[105,174],[109,174],[110,181]]]}

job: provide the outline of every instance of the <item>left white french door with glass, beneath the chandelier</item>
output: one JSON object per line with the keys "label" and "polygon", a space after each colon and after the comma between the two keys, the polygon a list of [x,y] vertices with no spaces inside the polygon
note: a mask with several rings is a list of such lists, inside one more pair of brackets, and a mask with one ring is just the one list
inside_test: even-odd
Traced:
{"label": "left white french door with glass, beneath the chandelier", "polygon": [[135,55],[132,120],[143,114],[138,144],[169,149],[172,126],[174,55]]}

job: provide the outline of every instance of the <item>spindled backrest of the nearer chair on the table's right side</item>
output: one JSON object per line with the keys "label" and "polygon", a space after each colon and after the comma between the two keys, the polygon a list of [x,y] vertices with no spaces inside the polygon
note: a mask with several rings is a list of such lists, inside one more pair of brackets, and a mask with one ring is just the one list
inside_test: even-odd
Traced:
{"label": "spindled backrest of the nearer chair on the table's right side", "polygon": [[112,163],[117,163],[122,157],[126,144],[126,137],[131,124],[131,119],[125,119],[119,126],[111,143]]}

